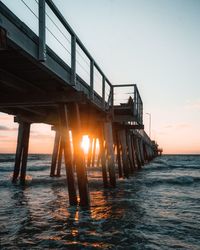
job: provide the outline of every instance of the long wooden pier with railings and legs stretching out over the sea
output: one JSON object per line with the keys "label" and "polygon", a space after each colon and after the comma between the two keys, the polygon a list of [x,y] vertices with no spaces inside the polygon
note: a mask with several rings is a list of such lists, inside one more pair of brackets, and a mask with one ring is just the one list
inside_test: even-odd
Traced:
{"label": "long wooden pier with railings and legs stretching out over the sea", "polygon": [[[0,1],[0,112],[19,123],[13,182],[25,183],[31,124],[49,124],[55,130],[50,176],[60,175],[64,156],[69,202],[87,206],[95,146],[86,164],[83,135],[99,142],[105,187],[158,155],[144,131],[142,99],[135,84],[109,81],[52,0],[15,5]],[[29,24],[15,7],[30,14]]]}

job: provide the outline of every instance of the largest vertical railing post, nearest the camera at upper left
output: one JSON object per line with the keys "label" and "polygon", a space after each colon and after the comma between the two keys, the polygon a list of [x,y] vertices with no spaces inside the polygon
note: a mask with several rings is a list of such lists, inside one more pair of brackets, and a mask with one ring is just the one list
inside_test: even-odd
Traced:
{"label": "largest vertical railing post, nearest the camera at upper left", "polygon": [[45,0],[39,0],[39,61],[46,60]]}

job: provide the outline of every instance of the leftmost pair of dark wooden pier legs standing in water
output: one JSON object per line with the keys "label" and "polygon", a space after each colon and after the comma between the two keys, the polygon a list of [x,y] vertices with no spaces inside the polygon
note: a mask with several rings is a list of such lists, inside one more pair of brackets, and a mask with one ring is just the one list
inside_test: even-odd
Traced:
{"label": "leftmost pair of dark wooden pier legs standing in water", "polygon": [[20,182],[21,184],[25,184],[29,137],[30,123],[20,122],[18,129],[17,150],[15,155],[15,166],[13,172],[14,183],[17,181],[20,173]]}

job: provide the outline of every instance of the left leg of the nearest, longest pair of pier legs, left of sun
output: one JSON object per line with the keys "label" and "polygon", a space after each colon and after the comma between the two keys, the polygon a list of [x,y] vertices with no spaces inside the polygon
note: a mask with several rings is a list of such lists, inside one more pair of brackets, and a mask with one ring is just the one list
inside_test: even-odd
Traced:
{"label": "left leg of the nearest, longest pair of pier legs, left of sun", "polygon": [[74,180],[74,169],[73,169],[73,156],[72,156],[70,137],[69,137],[69,120],[68,120],[67,106],[60,105],[59,113],[60,113],[61,145],[63,147],[64,158],[65,158],[69,203],[70,205],[77,205],[77,196],[76,196],[76,188]]}

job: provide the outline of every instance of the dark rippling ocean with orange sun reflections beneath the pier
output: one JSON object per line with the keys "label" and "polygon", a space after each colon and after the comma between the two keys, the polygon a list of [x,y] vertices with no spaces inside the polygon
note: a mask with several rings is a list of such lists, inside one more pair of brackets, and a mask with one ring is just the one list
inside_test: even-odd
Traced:
{"label": "dark rippling ocean with orange sun reflections beneath the pier", "polygon": [[200,156],[163,155],[117,188],[88,170],[91,206],[70,207],[50,155],[29,155],[25,187],[0,155],[0,249],[200,249]]}

